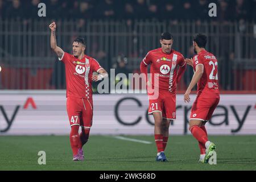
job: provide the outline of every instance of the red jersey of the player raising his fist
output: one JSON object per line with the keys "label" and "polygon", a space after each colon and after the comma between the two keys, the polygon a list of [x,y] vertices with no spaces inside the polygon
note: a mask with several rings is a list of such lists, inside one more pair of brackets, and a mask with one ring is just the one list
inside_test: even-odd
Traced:
{"label": "red jersey of the player raising his fist", "polygon": [[79,60],[67,52],[59,60],[65,64],[66,96],[92,99],[92,75],[102,69],[100,64],[92,57],[84,55]]}

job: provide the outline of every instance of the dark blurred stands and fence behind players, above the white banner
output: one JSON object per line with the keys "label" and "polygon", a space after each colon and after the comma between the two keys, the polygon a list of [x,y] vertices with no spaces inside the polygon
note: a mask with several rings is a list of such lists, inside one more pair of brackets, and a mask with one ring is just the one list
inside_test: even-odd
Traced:
{"label": "dark blurred stands and fence behind players, above the white banner", "polygon": [[[38,16],[39,3],[46,17]],[[209,3],[216,3],[217,17],[208,15]],[[221,89],[255,90],[255,10],[256,0],[0,0],[0,89],[65,88],[64,65],[49,48],[48,24],[56,20],[65,51],[84,36],[87,55],[125,75],[139,73],[143,56],[160,46],[160,32],[170,31],[185,57],[194,55],[193,34],[203,32],[218,57]],[[192,75],[188,67],[181,90]]]}

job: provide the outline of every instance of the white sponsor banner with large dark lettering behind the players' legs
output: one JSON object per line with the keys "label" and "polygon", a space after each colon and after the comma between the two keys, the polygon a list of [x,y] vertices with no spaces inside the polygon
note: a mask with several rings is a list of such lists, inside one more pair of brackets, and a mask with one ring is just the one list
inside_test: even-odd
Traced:
{"label": "white sponsor banner with large dark lettering behind the players' legs", "polygon": [[[195,95],[191,100],[195,100]],[[207,123],[209,134],[256,134],[256,94],[222,94]],[[176,120],[170,134],[190,134],[188,119],[193,102],[176,97]],[[154,119],[147,114],[146,94],[93,96],[92,134],[152,135]],[[0,92],[1,135],[69,134],[64,91]]]}

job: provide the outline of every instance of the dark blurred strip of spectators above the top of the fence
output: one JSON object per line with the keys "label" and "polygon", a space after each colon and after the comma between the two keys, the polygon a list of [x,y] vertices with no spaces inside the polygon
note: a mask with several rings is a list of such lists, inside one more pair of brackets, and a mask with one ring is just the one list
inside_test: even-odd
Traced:
{"label": "dark blurred strip of spectators above the top of the fence", "polygon": [[212,2],[218,7],[218,16],[212,20],[256,19],[255,0],[0,0],[0,16],[37,18],[40,2],[46,4],[50,19],[206,20]]}

